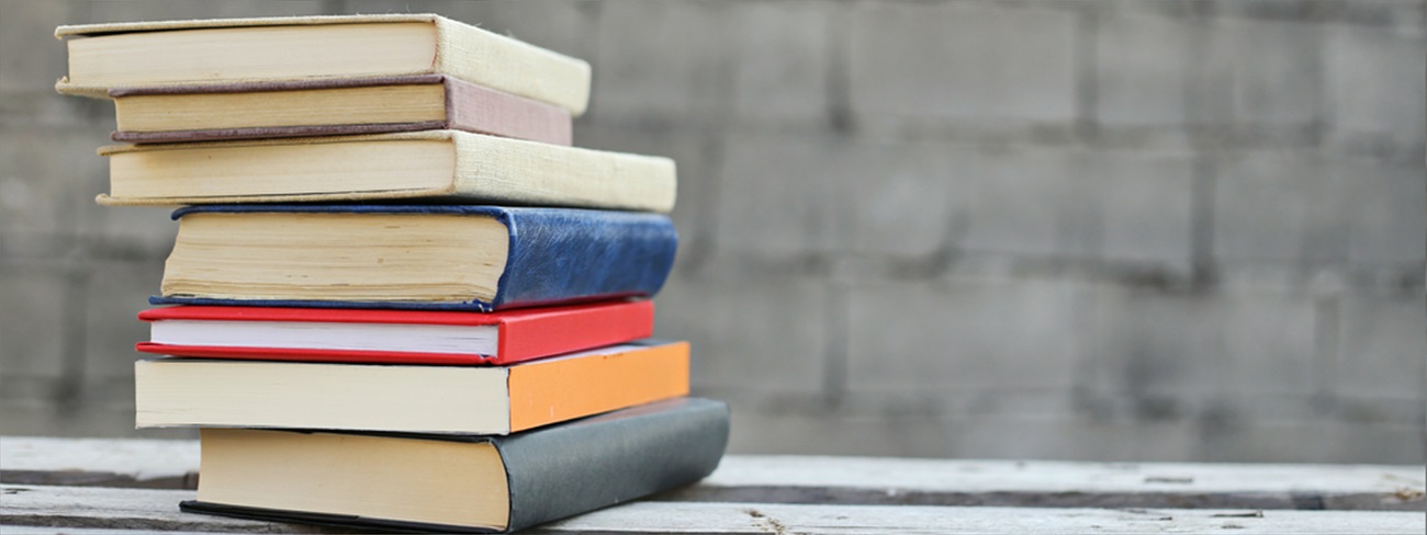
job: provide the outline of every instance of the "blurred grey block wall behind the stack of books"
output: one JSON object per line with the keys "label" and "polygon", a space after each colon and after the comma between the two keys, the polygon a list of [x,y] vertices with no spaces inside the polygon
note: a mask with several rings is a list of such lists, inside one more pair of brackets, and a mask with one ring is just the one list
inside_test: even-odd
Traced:
{"label": "blurred grey block wall behind the stack of books", "polygon": [[1421,1],[0,0],[0,434],[193,437],[131,429],[174,225],[93,204],[54,26],[385,11],[676,158],[658,334],[735,452],[1423,462]]}

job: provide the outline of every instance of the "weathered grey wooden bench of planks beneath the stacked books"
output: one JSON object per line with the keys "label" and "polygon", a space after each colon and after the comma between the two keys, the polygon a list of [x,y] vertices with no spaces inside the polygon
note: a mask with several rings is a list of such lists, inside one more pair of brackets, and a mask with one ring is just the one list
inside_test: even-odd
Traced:
{"label": "weathered grey wooden bench of planks beneath the stacked books", "polygon": [[[178,512],[190,441],[0,438],[4,534],[327,528]],[[549,534],[1416,534],[1424,467],[729,455],[704,482]]]}

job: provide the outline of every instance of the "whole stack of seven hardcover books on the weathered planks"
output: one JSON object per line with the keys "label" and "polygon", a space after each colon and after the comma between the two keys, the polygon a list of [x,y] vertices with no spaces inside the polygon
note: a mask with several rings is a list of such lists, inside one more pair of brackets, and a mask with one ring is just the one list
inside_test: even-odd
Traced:
{"label": "whole stack of seven hardcover books on the weathered planks", "polygon": [[440,16],[60,27],[111,205],[181,205],[137,425],[186,511],[514,531],[712,472],[726,405],[648,340],[675,165],[571,146],[589,66]]}

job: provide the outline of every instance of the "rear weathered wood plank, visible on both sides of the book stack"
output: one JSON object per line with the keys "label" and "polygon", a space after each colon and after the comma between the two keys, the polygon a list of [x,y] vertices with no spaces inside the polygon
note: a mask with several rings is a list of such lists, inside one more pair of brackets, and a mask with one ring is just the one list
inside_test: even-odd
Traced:
{"label": "rear weathered wood plank, visible on both sides of the book stack", "polygon": [[[194,488],[194,441],[3,438],[0,482]],[[729,455],[664,501],[1427,511],[1424,467]]]}

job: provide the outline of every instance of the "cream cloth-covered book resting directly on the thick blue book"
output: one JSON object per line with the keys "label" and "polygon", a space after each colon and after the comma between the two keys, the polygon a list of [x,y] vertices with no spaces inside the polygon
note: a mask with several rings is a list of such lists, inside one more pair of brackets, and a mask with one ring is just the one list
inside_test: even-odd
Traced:
{"label": "cream cloth-covered book resting directly on the thick blue book", "polygon": [[111,146],[100,204],[441,203],[668,213],[674,160],[428,130]]}

